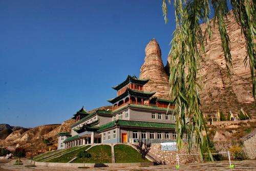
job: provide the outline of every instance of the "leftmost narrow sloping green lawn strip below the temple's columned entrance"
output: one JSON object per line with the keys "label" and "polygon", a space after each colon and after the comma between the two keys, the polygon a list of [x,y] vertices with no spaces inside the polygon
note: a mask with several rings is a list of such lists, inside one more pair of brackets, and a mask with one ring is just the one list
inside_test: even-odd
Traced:
{"label": "leftmost narrow sloping green lawn strip below the temple's columned entrance", "polygon": [[[47,160],[46,162],[57,162],[57,163],[67,163],[69,162],[71,159],[73,159],[74,157],[76,157],[76,155],[80,152],[80,151],[84,151],[86,149],[88,149],[91,145],[87,145],[84,146],[83,148],[74,150],[72,152],[69,152],[67,154],[64,154],[62,156]],[[68,149],[69,150],[69,149]],[[71,150],[69,150],[71,151]]]}

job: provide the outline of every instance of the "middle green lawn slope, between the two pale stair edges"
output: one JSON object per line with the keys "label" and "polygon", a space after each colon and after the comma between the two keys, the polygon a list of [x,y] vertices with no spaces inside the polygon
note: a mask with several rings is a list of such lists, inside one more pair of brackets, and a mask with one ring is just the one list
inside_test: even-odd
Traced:
{"label": "middle green lawn slope, between the two pale stair edges", "polygon": [[[96,145],[88,150],[92,155],[90,159],[85,159],[85,163],[112,163],[112,153],[110,145]],[[83,163],[82,159],[75,159],[72,163]]]}

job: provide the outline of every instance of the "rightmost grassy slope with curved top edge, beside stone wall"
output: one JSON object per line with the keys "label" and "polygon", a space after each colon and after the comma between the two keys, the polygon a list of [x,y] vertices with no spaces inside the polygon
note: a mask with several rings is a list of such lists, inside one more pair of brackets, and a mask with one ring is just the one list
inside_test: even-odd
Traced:
{"label": "rightmost grassy slope with curved top edge, beside stone wall", "polygon": [[[141,155],[132,146],[117,144],[114,146],[116,163],[137,163],[143,162]],[[145,159],[145,162],[148,162]]]}

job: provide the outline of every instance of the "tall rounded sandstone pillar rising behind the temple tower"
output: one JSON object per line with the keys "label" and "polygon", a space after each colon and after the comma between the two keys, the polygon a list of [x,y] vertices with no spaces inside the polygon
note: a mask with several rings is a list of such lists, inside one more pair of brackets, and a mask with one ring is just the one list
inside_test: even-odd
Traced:
{"label": "tall rounded sandstone pillar rising behind the temple tower", "polygon": [[161,57],[161,50],[156,39],[152,39],[145,48],[145,59],[140,67],[140,79],[150,79],[144,86],[144,91],[156,91],[156,97],[168,99],[169,85]]}

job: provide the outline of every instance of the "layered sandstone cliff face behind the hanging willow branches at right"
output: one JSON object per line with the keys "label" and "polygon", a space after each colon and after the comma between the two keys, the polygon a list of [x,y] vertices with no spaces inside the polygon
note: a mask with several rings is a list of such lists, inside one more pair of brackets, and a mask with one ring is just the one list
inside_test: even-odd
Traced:
{"label": "layered sandstone cliff face behind the hanging willow branches at right", "polygon": [[[206,25],[202,25],[203,31],[205,28]],[[202,58],[202,69],[199,72],[202,110],[205,114],[216,115],[220,108],[225,114],[231,110],[236,116],[243,107],[247,113],[255,117],[256,107],[251,92],[250,70],[249,67],[245,68],[243,62],[246,56],[246,42],[241,35],[241,29],[231,13],[228,16],[227,30],[233,67],[230,67],[231,76],[228,78],[218,25],[213,28],[212,24],[213,37],[205,43],[206,56]],[[167,73],[168,61],[165,67]]]}

